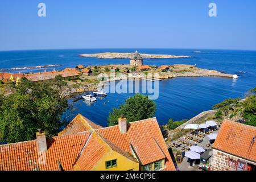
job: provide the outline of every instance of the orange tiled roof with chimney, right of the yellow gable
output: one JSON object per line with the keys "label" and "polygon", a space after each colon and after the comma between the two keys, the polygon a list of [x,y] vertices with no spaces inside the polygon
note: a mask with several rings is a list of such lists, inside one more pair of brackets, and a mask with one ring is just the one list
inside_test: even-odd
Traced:
{"label": "orange tiled roof with chimney, right of the yellow gable", "polygon": [[166,169],[175,170],[156,118],[131,122],[126,134],[121,134],[118,126],[96,131],[130,154],[132,146],[142,165],[166,158]]}

